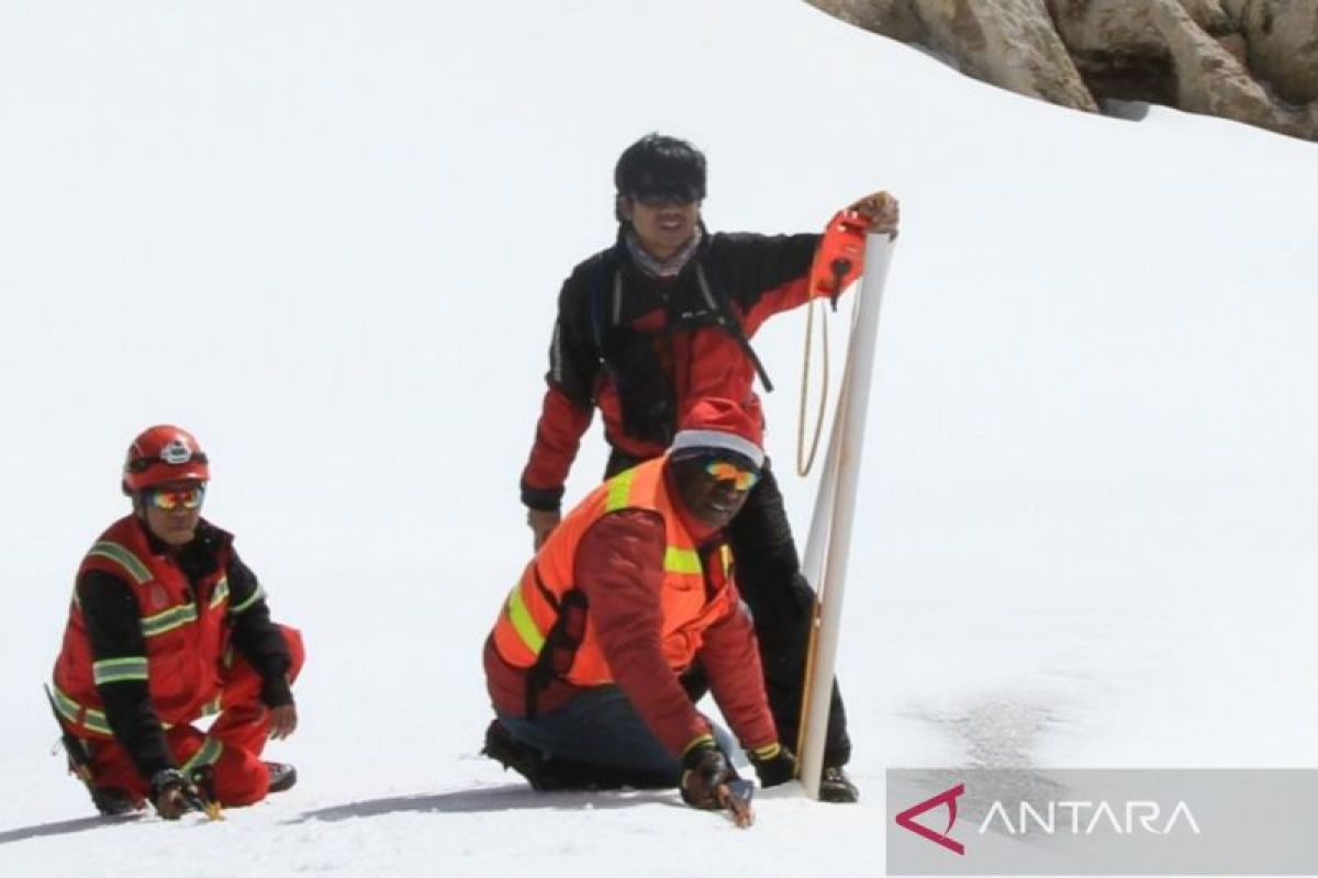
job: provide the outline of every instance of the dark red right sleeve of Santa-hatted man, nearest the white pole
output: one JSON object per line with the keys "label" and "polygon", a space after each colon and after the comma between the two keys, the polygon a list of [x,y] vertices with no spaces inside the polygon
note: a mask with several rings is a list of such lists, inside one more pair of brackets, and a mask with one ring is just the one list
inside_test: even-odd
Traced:
{"label": "dark red right sleeve of Santa-hatted man, nearest the white pole", "polygon": [[705,629],[700,659],[709,674],[709,690],[737,740],[747,750],[776,744],[778,729],[768,711],[755,629],[731,587],[729,612]]}

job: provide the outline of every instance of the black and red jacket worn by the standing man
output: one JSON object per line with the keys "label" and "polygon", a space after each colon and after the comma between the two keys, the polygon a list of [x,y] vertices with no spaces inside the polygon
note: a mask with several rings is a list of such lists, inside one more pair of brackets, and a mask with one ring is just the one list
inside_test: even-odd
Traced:
{"label": "black and red jacket worn by the standing man", "polygon": [[[754,365],[734,328],[750,338],[809,299],[817,234],[705,236],[667,279],[635,266],[621,234],[559,294],[548,390],[522,471],[522,502],[535,509],[559,507],[596,408],[609,444],[635,459],[662,454],[701,398],[735,400],[759,416]],[[720,323],[721,311],[729,320]]]}

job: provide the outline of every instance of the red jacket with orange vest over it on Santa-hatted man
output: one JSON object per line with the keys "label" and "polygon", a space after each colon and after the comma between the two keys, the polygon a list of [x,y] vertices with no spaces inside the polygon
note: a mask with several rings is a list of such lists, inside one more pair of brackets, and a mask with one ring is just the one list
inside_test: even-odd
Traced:
{"label": "red jacket with orange vest over it on Santa-hatted man", "polygon": [[[634,479],[635,488],[621,511],[610,509],[609,494],[617,496],[619,486],[626,487],[623,479]],[[655,736],[680,754],[709,732],[677,679],[699,657],[714,700],[742,744],[749,749],[771,745],[778,735],[754,631],[735,584],[721,569],[720,559],[728,557],[722,534],[670,504],[667,480],[666,461],[651,461],[597,488],[559,525],[514,588],[513,598],[525,600],[517,624],[530,620],[540,633],[548,631],[556,611],[538,599],[539,590],[555,595],[559,606],[572,586],[585,598],[581,645],[571,665],[558,669],[538,692],[538,711],[563,706],[590,681],[612,681]],[[704,573],[696,574],[697,592],[680,582],[683,577],[666,574],[666,555],[684,545],[699,546]],[[525,716],[527,671],[536,654],[527,652],[515,628],[513,611],[505,608],[485,644],[485,671],[494,706]]]}

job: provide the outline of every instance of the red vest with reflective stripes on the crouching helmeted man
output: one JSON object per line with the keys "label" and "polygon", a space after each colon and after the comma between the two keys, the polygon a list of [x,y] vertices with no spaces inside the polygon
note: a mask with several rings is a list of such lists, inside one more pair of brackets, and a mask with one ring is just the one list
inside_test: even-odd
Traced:
{"label": "red vest with reflective stripes on the crouching helmeted man", "polygon": [[229,557],[225,538],[216,569],[196,583],[194,598],[187,577],[173,559],[152,552],[145,527],[133,516],[120,519],[96,540],[78,578],[101,570],[128,583],[137,598],[146,654],[95,661],[75,584],[54,674],[55,710],[75,735],[113,735],[96,691],[100,683],[148,683],[166,728],[219,710],[221,657],[229,636],[225,613],[241,612],[264,596],[258,587],[243,606],[228,606]]}

